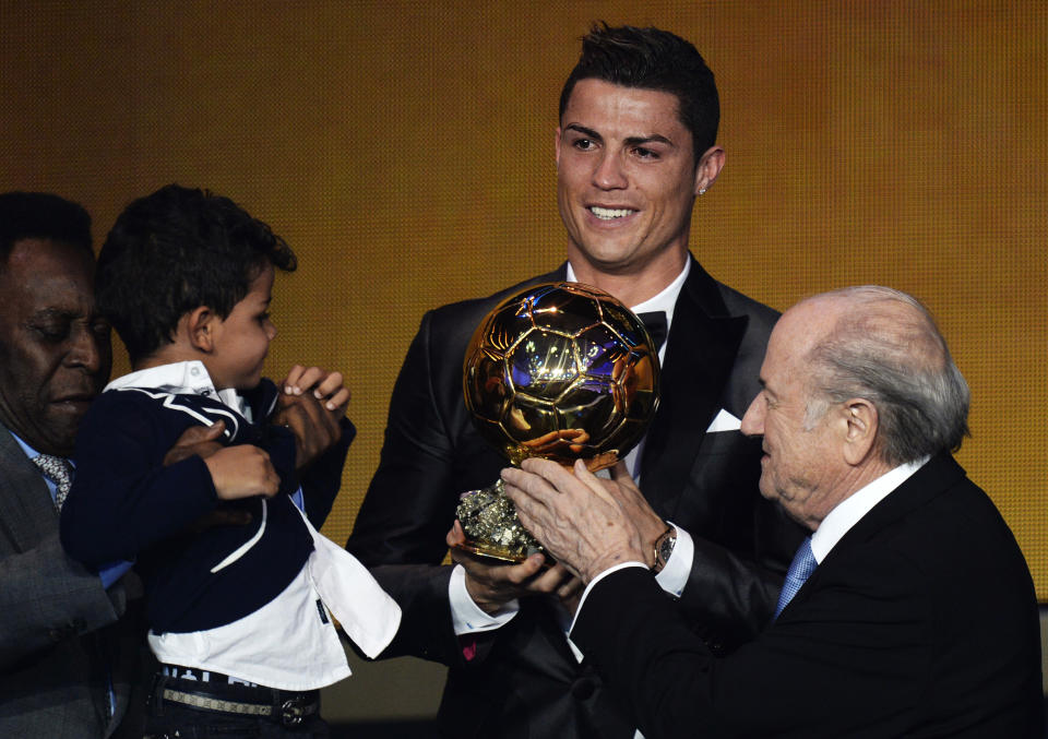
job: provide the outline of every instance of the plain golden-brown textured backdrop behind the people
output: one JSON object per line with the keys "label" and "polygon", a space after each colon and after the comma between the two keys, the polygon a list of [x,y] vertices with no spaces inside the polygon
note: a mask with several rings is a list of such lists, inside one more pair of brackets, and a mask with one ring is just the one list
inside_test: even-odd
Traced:
{"label": "plain golden-brown textured backdrop behind the people", "polygon": [[99,242],[170,181],[285,236],[269,369],[348,377],[344,540],[422,311],[562,258],[557,96],[594,19],[675,31],[717,76],[727,167],[692,230],[715,276],[779,309],[883,283],[937,313],[974,394],[961,462],[1048,600],[1040,0],[0,0],[0,189],[82,202]]}

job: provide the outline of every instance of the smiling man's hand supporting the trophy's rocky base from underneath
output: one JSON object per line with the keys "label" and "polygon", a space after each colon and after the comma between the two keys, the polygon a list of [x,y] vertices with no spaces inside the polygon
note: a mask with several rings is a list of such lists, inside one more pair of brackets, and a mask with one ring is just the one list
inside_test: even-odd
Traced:
{"label": "smiling man's hand supporting the trophy's rocky base from underneath", "polygon": [[532,555],[520,564],[492,563],[486,557],[476,557],[457,546],[466,540],[462,524],[457,521],[445,537],[451,548],[451,559],[466,571],[466,591],[469,597],[486,613],[495,613],[515,598],[531,595],[556,594],[574,612],[582,583],[562,564],[541,571],[546,558]]}

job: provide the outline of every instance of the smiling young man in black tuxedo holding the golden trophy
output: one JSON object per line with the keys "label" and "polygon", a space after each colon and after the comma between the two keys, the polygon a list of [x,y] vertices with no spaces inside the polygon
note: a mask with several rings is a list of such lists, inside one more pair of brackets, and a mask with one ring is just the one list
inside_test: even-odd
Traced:
{"label": "smiling young man in black tuxedo holding the golden trophy", "polygon": [[645,546],[659,549],[660,585],[713,648],[729,651],[772,616],[802,533],[759,494],[760,445],[738,429],[777,314],[716,282],[688,250],[695,198],[724,165],[718,117],[713,74],[691,44],[595,26],[564,84],[556,138],[568,262],[430,311],[408,349],[347,548],[404,611],[395,651],[450,665],[440,708],[449,736],[635,732],[565,637],[580,584],[563,567],[540,571],[541,556],[492,565],[457,550],[456,567],[440,564],[461,536],[448,534],[460,493],[490,485],[505,464],[463,403],[466,344],[527,284],[586,283],[665,315],[659,410],[629,457],[658,513]]}

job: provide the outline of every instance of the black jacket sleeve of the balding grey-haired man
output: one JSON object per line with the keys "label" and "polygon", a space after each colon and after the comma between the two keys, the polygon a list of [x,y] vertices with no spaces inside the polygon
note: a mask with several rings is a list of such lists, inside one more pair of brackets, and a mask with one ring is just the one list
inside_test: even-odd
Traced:
{"label": "black jacket sleeve of the balding grey-haired man", "polygon": [[597,583],[571,637],[647,739],[681,727],[702,737],[903,736],[936,657],[927,582],[918,562],[892,552],[838,564],[726,658],[641,569]]}

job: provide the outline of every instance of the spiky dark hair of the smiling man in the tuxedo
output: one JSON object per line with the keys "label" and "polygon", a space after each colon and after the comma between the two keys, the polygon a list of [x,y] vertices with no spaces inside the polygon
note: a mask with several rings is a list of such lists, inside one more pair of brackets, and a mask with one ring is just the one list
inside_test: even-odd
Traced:
{"label": "spiky dark hair of the smiling man in the tuxedo", "polygon": [[689,41],[658,28],[595,23],[582,37],[582,56],[560,93],[562,120],[580,80],[672,93],[681,123],[691,131],[695,162],[717,141],[720,100],[713,72]]}

